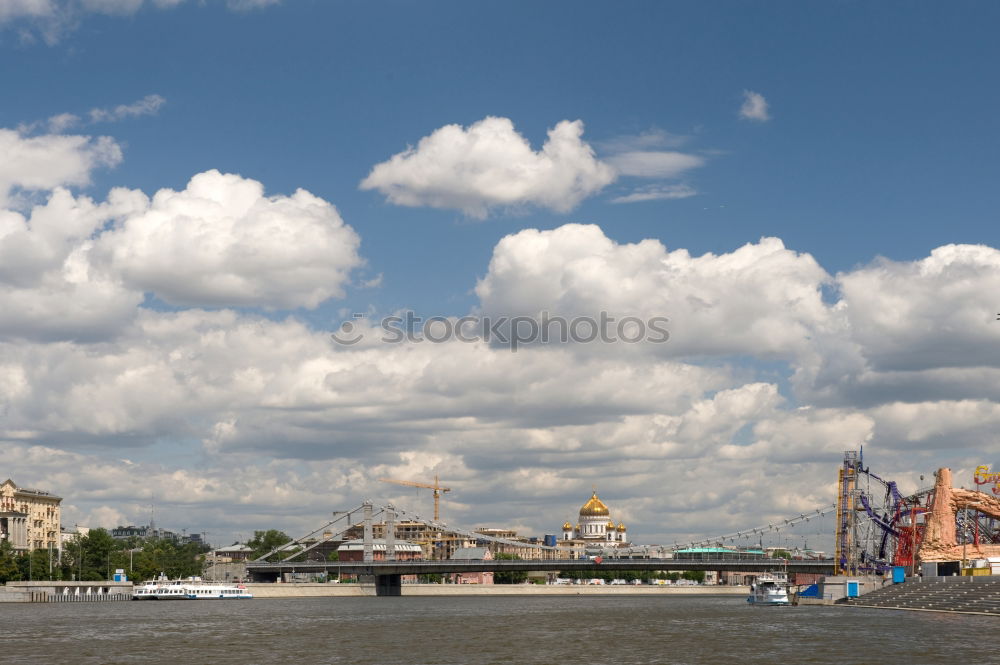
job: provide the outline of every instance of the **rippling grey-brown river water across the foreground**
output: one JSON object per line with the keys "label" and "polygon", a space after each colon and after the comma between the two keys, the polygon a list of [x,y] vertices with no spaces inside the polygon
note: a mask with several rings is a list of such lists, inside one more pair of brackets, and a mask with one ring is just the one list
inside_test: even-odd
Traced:
{"label": "rippling grey-brown river water across the foreground", "polygon": [[1000,662],[1000,618],[726,596],[0,605],[0,663]]}

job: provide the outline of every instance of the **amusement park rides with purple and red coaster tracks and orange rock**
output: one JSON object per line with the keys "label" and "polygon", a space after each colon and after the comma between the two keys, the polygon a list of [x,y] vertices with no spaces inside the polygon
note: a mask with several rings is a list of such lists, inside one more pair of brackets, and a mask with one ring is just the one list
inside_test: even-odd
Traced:
{"label": "amusement park rides with purple and red coaster tracks and orange rock", "polygon": [[[1000,474],[976,471],[977,485]],[[991,478],[996,476],[996,478]],[[1000,482],[994,494],[1000,493]],[[933,488],[903,496],[896,483],[844,453],[837,483],[836,562],[840,574],[880,573],[893,566],[915,572],[920,562],[1000,556],[1000,499],[956,489],[939,469]]]}

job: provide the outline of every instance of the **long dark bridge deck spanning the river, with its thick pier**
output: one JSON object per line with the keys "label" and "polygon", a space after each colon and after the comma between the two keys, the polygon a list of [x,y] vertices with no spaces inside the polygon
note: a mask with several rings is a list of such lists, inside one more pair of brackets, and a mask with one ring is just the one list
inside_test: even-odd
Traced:
{"label": "long dark bridge deck spanning the river, with its thick pier", "polygon": [[375,579],[375,593],[379,596],[398,596],[403,575],[429,575],[446,573],[475,573],[503,571],[574,571],[601,572],[609,570],[727,570],[764,573],[787,570],[789,573],[832,574],[833,559],[811,561],[784,559],[494,559],[447,561],[302,561],[263,562],[247,564],[247,572],[254,581],[273,582],[283,573],[322,573],[357,575]]}

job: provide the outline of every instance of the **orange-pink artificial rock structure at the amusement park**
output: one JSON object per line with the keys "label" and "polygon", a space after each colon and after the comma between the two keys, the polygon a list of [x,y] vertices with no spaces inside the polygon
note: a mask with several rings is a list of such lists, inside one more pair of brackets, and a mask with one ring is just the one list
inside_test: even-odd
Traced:
{"label": "orange-pink artificial rock structure at the amusement park", "polygon": [[958,511],[968,508],[1000,519],[1000,499],[951,486],[951,469],[938,469],[934,474],[934,503],[927,514],[923,542],[918,557],[921,561],[959,561],[1000,556],[1000,545],[967,543],[961,545],[955,527]]}

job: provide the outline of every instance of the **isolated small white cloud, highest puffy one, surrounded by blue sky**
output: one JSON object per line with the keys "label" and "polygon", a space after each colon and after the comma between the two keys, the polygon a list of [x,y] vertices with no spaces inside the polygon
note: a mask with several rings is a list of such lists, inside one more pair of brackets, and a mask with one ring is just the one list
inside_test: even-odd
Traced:
{"label": "isolated small white cloud, highest puffy one, surrounded by blue sky", "polygon": [[451,208],[477,218],[492,208],[525,205],[567,212],[615,179],[582,135],[581,121],[563,120],[534,151],[507,118],[446,125],[375,165],[361,188],[398,205]]}

